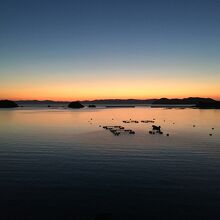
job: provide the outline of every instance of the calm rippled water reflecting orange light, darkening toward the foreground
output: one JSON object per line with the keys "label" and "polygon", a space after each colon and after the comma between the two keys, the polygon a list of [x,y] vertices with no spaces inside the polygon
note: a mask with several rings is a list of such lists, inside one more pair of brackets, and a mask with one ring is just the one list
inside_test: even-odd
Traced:
{"label": "calm rippled water reflecting orange light, darkening toward the foreground", "polygon": [[[155,118],[170,136],[130,118]],[[220,219],[220,110],[0,110],[0,209],[0,219]]]}

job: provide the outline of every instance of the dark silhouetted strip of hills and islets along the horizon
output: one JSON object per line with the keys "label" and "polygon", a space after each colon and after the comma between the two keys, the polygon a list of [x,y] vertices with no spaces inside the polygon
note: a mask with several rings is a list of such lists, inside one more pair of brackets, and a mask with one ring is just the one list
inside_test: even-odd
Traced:
{"label": "dark silhouetted strip of hills and islets along the horizon", "polygon": [[[201,98],[201,97],[189,97],[183,99],[100,99],[100,100],[84,100],[84,101],[51,101],[51,100],[20,100],[20,101],[9,101],[2,100],[1,108],[10,108],[20,106],[47,106],[47,107],[69,107],[69,108],[83,108],[88,106],[89,108],[95,108],[96,105],[104,105],[106,107],[130,107],[135,105],[151,105],[151,107],[164,107],[164,106],[175,106],[187,105],[188,107],[195,108],[216,108],[219,109],[220,101],[216,101],[212,98]],[[11,102],[11,103],[9,103]],[[13,104],[12,104],[13,103]],[[4,106],[4,107],[3,107]]]}

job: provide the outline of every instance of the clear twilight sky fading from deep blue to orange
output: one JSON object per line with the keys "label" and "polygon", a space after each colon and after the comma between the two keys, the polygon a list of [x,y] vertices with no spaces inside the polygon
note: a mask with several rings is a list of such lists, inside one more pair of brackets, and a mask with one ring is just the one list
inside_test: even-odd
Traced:
{"label": "clear twilight sky fading from deep blue to orange", "polygon": [[0,99],[220,100],[219,0],[1,0]]}

